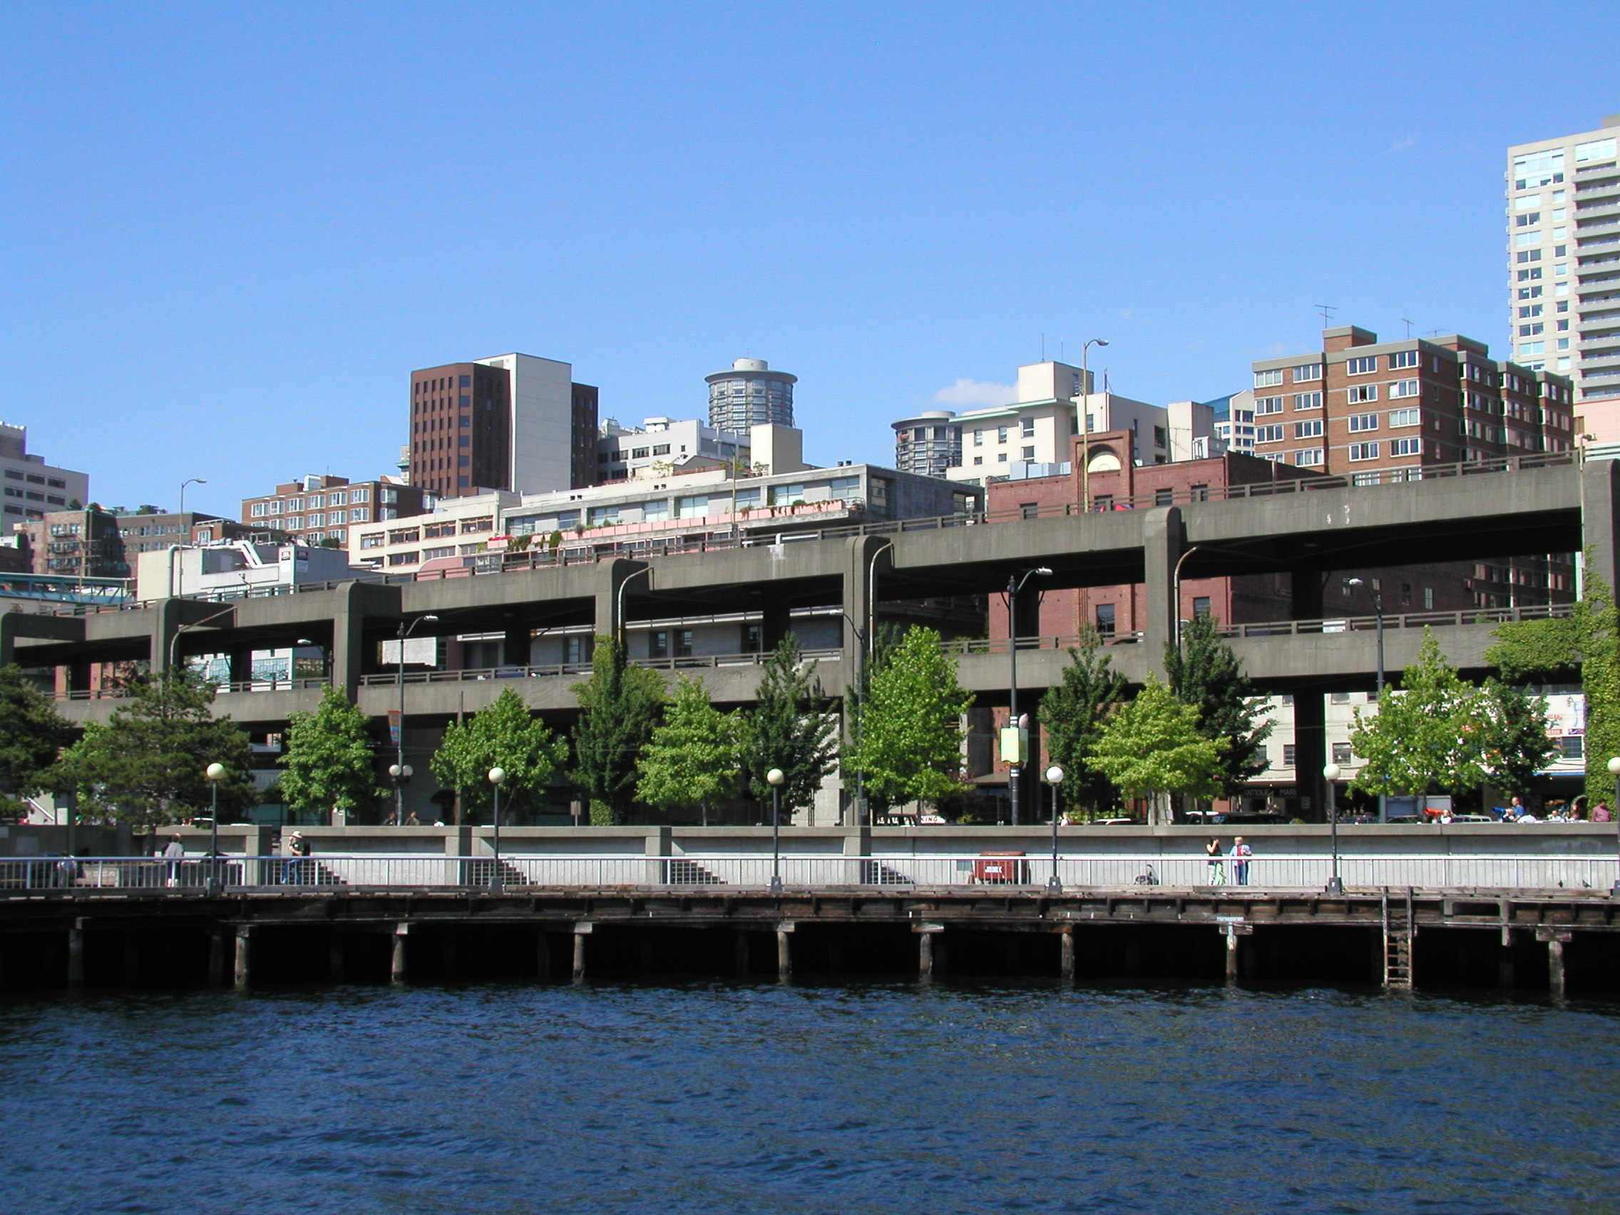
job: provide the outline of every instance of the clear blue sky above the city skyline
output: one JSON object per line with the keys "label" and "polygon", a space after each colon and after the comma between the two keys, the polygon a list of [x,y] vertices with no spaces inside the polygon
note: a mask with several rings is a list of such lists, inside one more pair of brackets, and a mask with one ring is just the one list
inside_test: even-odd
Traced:
{"label": "clear blue sky above the city skyline", "polygon": [[826,463],[1043,334],[1155,402],[1314,305],[1505,353],[1503,149],[1620,112],[1614,3],[5,15],[0,418],[232,515],[390,470],[408,371],[509,350],[622,421],[768,358]]}

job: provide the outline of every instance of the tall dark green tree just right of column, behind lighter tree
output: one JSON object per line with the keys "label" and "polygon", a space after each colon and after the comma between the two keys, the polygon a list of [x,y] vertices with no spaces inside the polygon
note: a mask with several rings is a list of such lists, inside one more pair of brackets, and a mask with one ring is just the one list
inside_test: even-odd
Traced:
{"label": "tall dark green tree just right of column, behind lighter tree", "polygon": [[1213,617],[1194,616],[1181,625],[1181,645],[1165,646],[1165,674],[1176,698],[1199,711],[1199,734],[1226,740],[1220,792],[1241,794],[1265,771],[1265,740],[1273,723],[1264,719],[1265,698],[1254,695],[1254,684],[1221,640]]}

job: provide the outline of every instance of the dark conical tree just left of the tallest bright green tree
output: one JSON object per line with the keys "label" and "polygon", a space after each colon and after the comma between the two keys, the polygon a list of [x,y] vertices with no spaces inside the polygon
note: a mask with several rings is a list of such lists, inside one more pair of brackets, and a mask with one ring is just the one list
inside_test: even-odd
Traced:
{"label": "dark conical tree just left of the tallest bright green tree", "polygon": [[760,672],[753,711],[744,714],[742,770],[748,791],[768,802],[765,774],[781,768],[782,813],[792,815],[815,800],[815,791],[833,771],[838,719],[831,714],[815,663],[804,661],[799,638],[787,633]]}

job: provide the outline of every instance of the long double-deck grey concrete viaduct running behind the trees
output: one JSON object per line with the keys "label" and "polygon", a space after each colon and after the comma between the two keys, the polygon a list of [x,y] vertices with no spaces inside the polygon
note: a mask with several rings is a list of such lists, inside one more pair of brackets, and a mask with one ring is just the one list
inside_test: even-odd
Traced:
{"label": "long double-deck grey concrete viaduct running behind the trees", "polygon": [[[377,643],[394,637],[402,620],[436,616],[434,622],[418,624],[415,635],[501,633],[507,669],[486,677],[436,672],[431,682],[416,682],[413,676],[413,719],[444,721],[458,711],[475,711],[509,687],[541,713],[569,714],[575,706],[570,685],[583,677],[580,667],[531,666],[533,630],[588,625],[611,632],[622,619],[752,611],[761,616],[763,643],[770,648],[787,629],[794,609],[834,608],[844,620],[842,651],[825,656],[820,674],[828,693],[839,695],[859,679],[875,608],[930,596],[996,595],[1009,575],[1043,565],[1053,572],[1043,580],[1051,588],[1145,586],[1144,635],[1110,648],[1116,666],[1139,682],[1162,667],[1163,648],[1173,637],[1178,561],[1187,578],[1288,573],[1294,580],[1294,614],[1306,620],[1320,620],[1324,580],[1338,569],[1584,549],[1589,569],[1614,585],[1620,528],[1617,470],[1615,462],[1588,462],[1379,486],[1290,483],[1290,492],[1275,496],[1139,510],[1008,523],[970,517],[907,520],[778,546],[710,548],[640,561],[611,557],[480,577],[343,583],[232,603],[162,599],[83,616],[8,614],[0,617],[0,661],[15,656],[23,666],[68,666],[75,672],[70,687],[86,688],[86,695],[63,701],[62,708],[70,719],[96,721],[117,700],[87,692],[91,663],[149,659],[160,667],[170,648],[181,656],[228,653],[245,661],[254,648],[305,640],[324,648],[330,679],[381,718],[397,700],[392,679],[377,667]],[[1396,619],[1392,625],[1411,622]],[[1453,663],[1477,672],[1494,629],[1494,619],[1471,624],[1458,617],[1439,637]],[[1421,640],[1422,630],[1414,627],[1387,632],[1392,679],[1416,656]],[[1050,638],[1047,648],[1038,648],[1038,640],[1025,643],[1035,648],[1021,653],[1019,687],[1034,693],[1058,680],[1066,654]],[[1333,632],[1332,624],[1317,624],[1299,633],[1238,637],[1233,646],[1256,682],[1272,692],[1372,684],[1371,630]],[[732,663],[672,666],[703,677],[714,700],[724,705],[752,700],[758,679],[758,667],[744,656]],[[233,679],[237,669],[233,663]],[[1004,643],[1000,653],[962,653],[959,671],[980,703],[1006,703]],[[246,724],[285,721],[290,711],[311,708],[319,697],[318,687],[246,690],[253,687],[248,674],[243,671],[243,690],[217,700],[217,711]],[[526,677],[489,677],[496,674]],[[1309,710],[1301,711],[1296,727],[1299,771],[1320,770],[1322,739],[1315,731],[1312,742]]]}

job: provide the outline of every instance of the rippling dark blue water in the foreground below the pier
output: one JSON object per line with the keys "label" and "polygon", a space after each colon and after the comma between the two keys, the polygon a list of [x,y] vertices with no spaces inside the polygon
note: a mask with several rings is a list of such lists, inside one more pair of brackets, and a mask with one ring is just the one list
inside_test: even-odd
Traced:
{"label": "rippling dark blue water in the foreground below the pier", "polygon": [[1615,1212],[1615,1008],[460,987],[0,1003],[3,1212]]}

